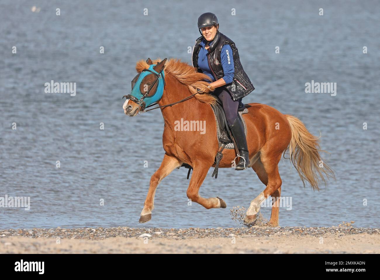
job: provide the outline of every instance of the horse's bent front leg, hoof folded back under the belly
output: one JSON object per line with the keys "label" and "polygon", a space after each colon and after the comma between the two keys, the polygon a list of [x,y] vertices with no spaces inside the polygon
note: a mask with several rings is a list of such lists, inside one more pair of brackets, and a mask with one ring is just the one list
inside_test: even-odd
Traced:
{"label": "horse's bent front leg, hoof folded back under the belly", "polygon": [[199,203],[206,209],[210,208],[226,208],[227,205],[222,198],[211,197],[204,198],[199,195],[199,188],[201,187],[204,178],[207,176],[207,172],[210,165],[207,164],[197,164],[193,166],[193,174],[190,179],[190,184],[187,188],[187,197],[192,201]]}

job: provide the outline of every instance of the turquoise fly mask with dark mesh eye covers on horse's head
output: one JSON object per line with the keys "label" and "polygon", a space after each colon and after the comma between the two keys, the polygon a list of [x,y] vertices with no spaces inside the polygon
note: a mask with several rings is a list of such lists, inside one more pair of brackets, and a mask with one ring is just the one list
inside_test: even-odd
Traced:
{"label": "turquoise fly mask with dark mesh eye covers on horse's head", "polygon": [[[130,99],[136,104],[138,104],[139,114],[144,112],[144,109],[146,107],[149,107],[151,104],[160,100],[164,92],[165,85],[166,85],[164,70],[162,69],[160,72],[155,71],[153,67],[156,65],[157,64],[151,64],[148,69],[143,69],[141,73],[137,74],[136,77],[131,82],[131,86],[132,86],[131,94],[123,96],[123,98],[126,97],[127,99]],[[149,74],[154,74],[157,76],[157,78],[154,81],[154,83],[150,86],[149,90],[146,93],[142,94],[140,91],[141,82],[144,79],[144,77],[146,77]],[[153,88],[153,86],[156,83],[158,83],[156,91],[150,92],[150,90]]]}

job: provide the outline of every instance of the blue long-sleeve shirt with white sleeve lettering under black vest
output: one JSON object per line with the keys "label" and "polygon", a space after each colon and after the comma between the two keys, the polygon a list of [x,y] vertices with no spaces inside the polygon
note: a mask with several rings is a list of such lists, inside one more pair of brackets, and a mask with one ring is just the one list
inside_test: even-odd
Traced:
{"label": "blue long-sleeve shirt with white sleeve lettering under black vest", "polygon": [[[215,78],[212,75],[211,69],[209,67],[209,63],[207,61],[208,50],[204,47],[206,46],[206,41],[203,39],[200,43],[201,49],[198,53],[198,67],[202,70],[204,74],[209,76],[213,82],[215,82]],[[234,59],[232,57],[232,49],[231,46],[226,44],[222,46],[222,50],[220,51],[220,63],[222,63],[223,68],[223,80],[225,80],[228,85],[233,81],[234,78]]]}

